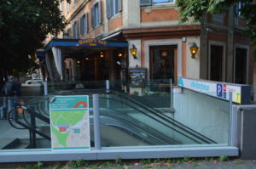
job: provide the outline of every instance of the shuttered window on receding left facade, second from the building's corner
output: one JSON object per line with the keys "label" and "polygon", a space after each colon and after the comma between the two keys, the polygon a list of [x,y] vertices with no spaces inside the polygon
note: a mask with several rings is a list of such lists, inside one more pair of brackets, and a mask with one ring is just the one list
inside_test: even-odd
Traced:
{"label": "shuttered window on receding left facade, second from the building's corner", "polygon": [[91,11],[91,26],[96,27],[102,22],[101,3],[100,1],[90,8]]}

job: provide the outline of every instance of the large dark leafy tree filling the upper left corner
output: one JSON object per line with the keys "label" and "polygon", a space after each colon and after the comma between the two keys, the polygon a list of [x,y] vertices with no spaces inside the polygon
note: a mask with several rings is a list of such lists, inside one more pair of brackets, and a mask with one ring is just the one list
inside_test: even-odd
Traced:
{"label": "large dark leafy tree filling the upper left corner", "polygon": [[[62,0],[0,0],[0,69],[29,70],[36,49],[48,33],[57,35],[67,25]],[[69,0],[68,0],[69,2]],[[30,55],[31,57],[28,57]]]}

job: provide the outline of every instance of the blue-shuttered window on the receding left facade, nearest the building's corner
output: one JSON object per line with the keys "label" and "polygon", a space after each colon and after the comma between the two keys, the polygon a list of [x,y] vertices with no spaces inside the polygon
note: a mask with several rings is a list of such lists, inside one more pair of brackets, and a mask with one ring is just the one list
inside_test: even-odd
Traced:
{"label": "blue-shuttered window on the receding left facade, nearest the building's corner", "polygon": [[107,0],[107,17],[111,18],[122,10],[121,0]]}

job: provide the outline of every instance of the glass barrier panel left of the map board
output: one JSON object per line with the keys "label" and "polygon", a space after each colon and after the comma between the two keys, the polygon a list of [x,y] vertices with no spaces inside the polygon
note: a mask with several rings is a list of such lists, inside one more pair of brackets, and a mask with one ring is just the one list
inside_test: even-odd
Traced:
{"label": "glass barrier panel left of the map board", "polygon": [[[24,104],[35,114],[45,116],[40,119],[30,115],[29,110],[12,109],[15,102]],[[0,98],[0,149],[50,149],[49,106],[44,97]],[[10,111],[9,111],[10,110]],[[31,111],[30,111],[31,112]],[[29,130],[34,127],[42,134]]]}

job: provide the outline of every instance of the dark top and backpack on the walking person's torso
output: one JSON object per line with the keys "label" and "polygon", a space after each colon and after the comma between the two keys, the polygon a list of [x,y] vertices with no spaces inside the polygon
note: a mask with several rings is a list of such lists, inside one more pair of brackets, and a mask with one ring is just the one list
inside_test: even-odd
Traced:
{"label": "dark top and backpack on the walking person's torso", "polygon": [[1,93],[6,97],[20,96],[20,86],[13,81],[6,82],[3,85]]}

